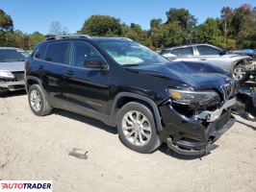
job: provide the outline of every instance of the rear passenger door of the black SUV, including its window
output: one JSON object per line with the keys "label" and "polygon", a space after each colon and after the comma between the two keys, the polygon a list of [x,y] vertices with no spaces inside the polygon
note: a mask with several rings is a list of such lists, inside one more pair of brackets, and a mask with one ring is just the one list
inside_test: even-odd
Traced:
{"label": "rear passenger door of the black SUV, including its window", "polygon": [[44,60],[39,61],[39,79],[42,80],[49,102],[55,107],[65,106],[64,71],[69,63],[69,54],[68,41],[53,42],[47,45]]}

